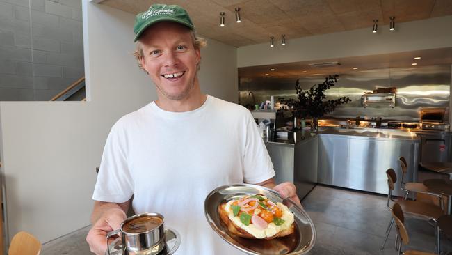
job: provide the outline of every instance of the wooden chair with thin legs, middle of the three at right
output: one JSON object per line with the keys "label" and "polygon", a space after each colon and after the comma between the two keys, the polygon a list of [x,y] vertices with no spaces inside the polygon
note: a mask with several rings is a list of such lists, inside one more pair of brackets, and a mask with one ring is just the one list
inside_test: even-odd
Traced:
{"label": "wooden chair with thin legs, middle of the three at right", "polygon": [[[395,201],[392,199],[392,191],[394,190],[395,183],[397,182],[397,175],[394,169],[390,168],[386,171],[387,176],[387,185],[388,185],[388,194],[387,194],[387,202],[386,205],[388,208],[391,208],[389,206],[389,201],[397,202],[399,206],[403,209],[403,212],[405,212],[407,215],[411,215],[413,217],[419,217],[421,219],[427,219],[432,220],[435,222],[435,230],[437,229],[436,222],[437,219],[444,215],[443,208],[440,208],[439,206],[435,206],[431,203],[423,203],[420,201],[410,201],[410,200],[397,200]],[[386,238],[383,242],[383,245],[381,249],[385,248],[387,238],[389,237],[389,233],[391,233],[392,225],[394,225],[394,217],[391,219],[391,222],[389,222],[389,226],[386,229]],[[437,231],[435,231],[436,235],[436,241],[437,241],[437,249],[439,249],[439,235]]]}

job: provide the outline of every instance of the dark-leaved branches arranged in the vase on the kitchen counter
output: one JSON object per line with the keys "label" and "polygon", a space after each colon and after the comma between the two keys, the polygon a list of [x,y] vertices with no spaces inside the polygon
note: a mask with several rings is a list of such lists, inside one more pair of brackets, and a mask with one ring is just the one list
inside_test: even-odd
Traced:
{"label": "dark-leaved branches arranged in the vase on the kitchen counter", "polygon": [[325,91],[337,82],[339,75],[328,75],[325,82],[316,84],[306,91],[300,87],[300,79],[295,83],[297,100],[290,100],[288,105],[293,107],[293,114],[298,118],[320,118],[321,116],[334,111],[338,105],[351,102],[350,98],[342,97],[335,100],[326,100]]}

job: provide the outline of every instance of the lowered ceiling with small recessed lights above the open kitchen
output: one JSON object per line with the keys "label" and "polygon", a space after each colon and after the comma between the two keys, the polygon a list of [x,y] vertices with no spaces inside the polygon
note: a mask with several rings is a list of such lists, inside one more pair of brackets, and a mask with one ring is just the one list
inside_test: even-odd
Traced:
{"label": "lowered ceiling with small recessed lights above the open kitchen", "polygon": [[[420,56],[421,59],[414,59]],[[316,67],[312,63],[340,63],[330,67]],[[417,65],[412,65],[416,63]],[[321,61],[305,61],[296,63],[282,63],[277,65],[259,65],[239,68],[239,77],[312,77],[325,74],[341,74],[375,70],[380,68],[417,68],[427,65],[451,65],[452,47],[443,49],[427,49],[415,52],[398,52],[392,54],[378,54],[369,56],[353,56],[339,59],[323,59]],[[357,69],[353,69],[357,68]],[[275,70],[271,70],[275,69]],[[268,75],[266,75],[268,74]]]}

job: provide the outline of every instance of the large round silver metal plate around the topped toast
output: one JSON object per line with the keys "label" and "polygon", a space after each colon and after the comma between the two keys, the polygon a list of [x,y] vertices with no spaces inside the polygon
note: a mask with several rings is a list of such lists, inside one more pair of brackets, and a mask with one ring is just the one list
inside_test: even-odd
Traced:
{"label": "large round silver metal plate around the topped toast", "polygon": [[[291,235],[272,240],[247,239],[229,233],[227,227],[218,215],[218,206],[239,196],[263,194],[271,201],[283,203],[295,216],[296,230]],[[220,235],[223,240],[237,249],[252,255],[275,255],[275,254],[305,254],[309,252],[316,242],[316,229],[307,212],[291,199],[282,199],[280,194],[274,190],[258,185],[235,184],[218,187],[204,201],[204,214],[212,229]]]}

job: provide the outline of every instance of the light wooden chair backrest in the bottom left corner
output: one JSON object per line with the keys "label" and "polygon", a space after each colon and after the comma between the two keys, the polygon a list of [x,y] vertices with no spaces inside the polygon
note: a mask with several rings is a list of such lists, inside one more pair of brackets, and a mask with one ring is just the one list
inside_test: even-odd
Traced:
{"label": "light wooden chair backrest in the bottom left corner", "polygon": [[40,251],[39,240],[25,231],[20,231],[11,240],[8,255],[38,255]]}

